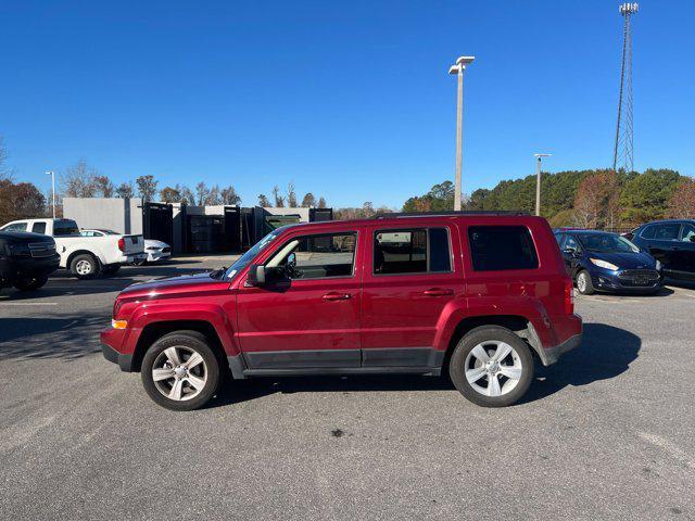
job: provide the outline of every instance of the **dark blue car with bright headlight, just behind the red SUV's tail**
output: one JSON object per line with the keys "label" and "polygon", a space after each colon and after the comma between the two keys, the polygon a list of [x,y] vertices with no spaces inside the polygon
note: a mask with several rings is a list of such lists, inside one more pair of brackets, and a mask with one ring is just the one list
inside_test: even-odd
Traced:
{"label": "dark blue car with bright headlight, just behind the red SUV's tail", "polygon": [[595,291],[656,293],[661,289],[659,262],[624,237],[596,230],[558,230],[555,238],[568,274],[584,295]]}

